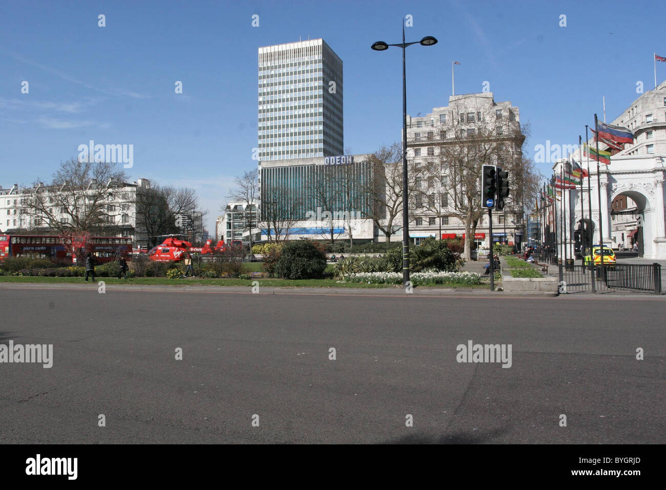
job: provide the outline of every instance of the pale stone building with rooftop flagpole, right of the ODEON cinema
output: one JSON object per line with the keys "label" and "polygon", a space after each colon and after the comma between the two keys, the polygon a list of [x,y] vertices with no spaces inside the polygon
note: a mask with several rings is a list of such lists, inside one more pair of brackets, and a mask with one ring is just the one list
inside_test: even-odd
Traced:
{"label": "pale stone building with rooftop flagpole, right of the ODEON cinema", "polygon": [[[446,107],[435,107],[422,117],[407,116],[408,160],[417,167],[425,165],[441,171],[419,177],[415,183],[415,194],[422,196],[413,203],[410,198],[410,238],[414,243],[425,237],[438,237],[440,233],[442,238],[462,238],[465,233],[464,222],[455,216],[451,176],[446,173],[442,145],[498,141],[505,143],[507,151],[514,157],[520,157],[524,137],[515,137],[519,134],[519,121],[519,109],[509,101],[496,102],[490,92],[454,95],[449,97]],[[493,163],[501,166],[499,161]],[[481,168],[478,175],[481,175]],[[398,235],[402,236],[401,230],[396,231],[396,238],[400,239]],[[494,211],[493,235],[493,241],[515,245],[526,241],[521,203],[507,199],[503,211]],[[474,241],[479,249],[486,250],[491,245],[487,213],[476,227]]]}

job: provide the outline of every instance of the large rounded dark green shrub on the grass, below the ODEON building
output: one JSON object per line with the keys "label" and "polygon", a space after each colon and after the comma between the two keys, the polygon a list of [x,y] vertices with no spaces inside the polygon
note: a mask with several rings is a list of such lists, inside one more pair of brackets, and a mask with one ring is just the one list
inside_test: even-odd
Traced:
{"label": "large rounded dark green shrub on the grass, below the ODEON building", "polygon": [[288,241],[280,250],[274,274],[285,279],[312,279],[326,270],[326,255],[310,240]]}

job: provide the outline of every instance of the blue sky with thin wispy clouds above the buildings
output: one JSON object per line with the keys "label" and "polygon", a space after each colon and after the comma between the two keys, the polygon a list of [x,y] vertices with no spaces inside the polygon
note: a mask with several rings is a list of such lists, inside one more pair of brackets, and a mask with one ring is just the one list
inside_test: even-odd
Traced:
{"label": "blue sky with thin wispy clouds above the buildings", "polygon": [[[594,113],[603,120],[604,96],[610,122],[641,95],[640,83],[654,88],[653,51],[666,56],[666,6],[635,5],[3,1],[0,185],[50,181],[90,140],[133,145],[129,180],[196,189],[213,234],[234,177],[256,170],[258,47],[323,38],[344,66],[344,147],[372,153],[400,141],[402,53],[370,45],[402,41],[408,15],[406,41],[439,41],[406,51],[408,114],[448,105],[458,61],[456,94],[485,85],[496,101],[511,101],[529,123],[523,152],[533,157],[547,140],[577,144]],[[666,63],[658,64],[661,83]],[[551,173],[550,163],[537,168]]]}

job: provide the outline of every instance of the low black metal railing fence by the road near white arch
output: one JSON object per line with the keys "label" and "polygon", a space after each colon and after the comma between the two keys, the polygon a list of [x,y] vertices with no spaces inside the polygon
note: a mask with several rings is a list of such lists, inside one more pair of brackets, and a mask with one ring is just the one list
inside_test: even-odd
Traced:
{"label": "low black metal railing fence by the road near white arch", "polygon": [[661,265],[617,264],[603,267],[559,265],[559,292],[639,291],[661,294]]}

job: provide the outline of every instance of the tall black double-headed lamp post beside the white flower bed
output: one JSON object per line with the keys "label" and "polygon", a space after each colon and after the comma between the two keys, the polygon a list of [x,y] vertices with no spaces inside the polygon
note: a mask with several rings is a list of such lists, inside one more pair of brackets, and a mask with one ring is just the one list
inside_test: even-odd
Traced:
{"label": "tall black double-headed lamp post beside the white flower bed", "polygon": [[437,44],[437,39],[426,36],[421,41],[414,43],[405,42],[405,25],[402,24],[402,43],[387,44],[377,41],[371,48],[375,51],[386,51],[389,46],[402,48],[402,285],[407,287],[410,280],[410,227],[408,213],[408,178],[407,178],[407,83],[405,72],[405,49],[412,44],[432,46]]}

